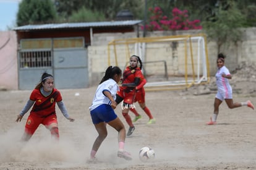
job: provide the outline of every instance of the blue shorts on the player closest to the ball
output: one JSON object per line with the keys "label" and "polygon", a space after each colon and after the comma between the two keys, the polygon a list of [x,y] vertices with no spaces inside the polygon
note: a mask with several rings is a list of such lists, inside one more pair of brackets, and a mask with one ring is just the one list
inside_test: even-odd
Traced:
{"label": "blue shorts on the player closest to the ball", "polygon": [[117,115],[114,113],[114,109],[108,104],[101,104],[97,108],[90,111],[93,124],[100,122],[110,122],[116,119]]}

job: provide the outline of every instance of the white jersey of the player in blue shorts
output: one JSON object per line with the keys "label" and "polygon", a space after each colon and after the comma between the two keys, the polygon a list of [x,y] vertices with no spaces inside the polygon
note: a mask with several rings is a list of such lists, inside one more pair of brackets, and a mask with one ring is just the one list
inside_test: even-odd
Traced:
{"label": "white jersey of the player in blue shorts", "polygon": [[109,91],[111,96],[116,99],[116,91],[119,91],[119,86],[113,79],[108,79],[105,82],[98,85],[98,88],[95,92],[92,105],[89,107],[89,110],[92,111],[93,109],[97,108],[101,104],[108,104],[111,105],[111,101],[108,97],[103,94],[103,91]]}

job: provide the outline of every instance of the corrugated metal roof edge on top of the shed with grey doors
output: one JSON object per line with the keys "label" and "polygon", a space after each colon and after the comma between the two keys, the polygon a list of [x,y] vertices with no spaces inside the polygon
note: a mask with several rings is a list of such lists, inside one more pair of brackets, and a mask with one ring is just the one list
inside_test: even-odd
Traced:
{"label": "corrugated metal roof edge on top of the shed with grey doors", "polygon": [[41,25],[23,25],[13,30],[49,30],[58,28],[88,28],[88,27],[113,27],[131,26],[142,22],[142,20],[118,20],[104,22],[77,22],[77,23],[47,23]]}

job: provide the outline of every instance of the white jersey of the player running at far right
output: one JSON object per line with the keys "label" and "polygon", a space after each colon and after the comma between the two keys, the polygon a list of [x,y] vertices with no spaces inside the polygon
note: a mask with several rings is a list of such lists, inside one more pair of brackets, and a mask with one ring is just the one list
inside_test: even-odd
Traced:
{"label": "white jersey of the player running at far right", "polygon": [[223,66],[220,69],[218,69],[218,71],[215,74],[218,91],[222,94],[232,93],[232,88],[231,85],[229,84],[229,80],[222,77],[222,74],[230,75],[230,72],[226,66]]}

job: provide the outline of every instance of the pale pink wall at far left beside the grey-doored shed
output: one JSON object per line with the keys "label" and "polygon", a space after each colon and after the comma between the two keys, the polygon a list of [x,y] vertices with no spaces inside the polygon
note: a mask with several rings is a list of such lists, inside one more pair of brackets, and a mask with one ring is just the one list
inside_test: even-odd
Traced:
{"label": "pale pink wall at far left beside the grey-doored shed", "polygon": [[18,89],[17,36],[0,32],[0,88]]}

